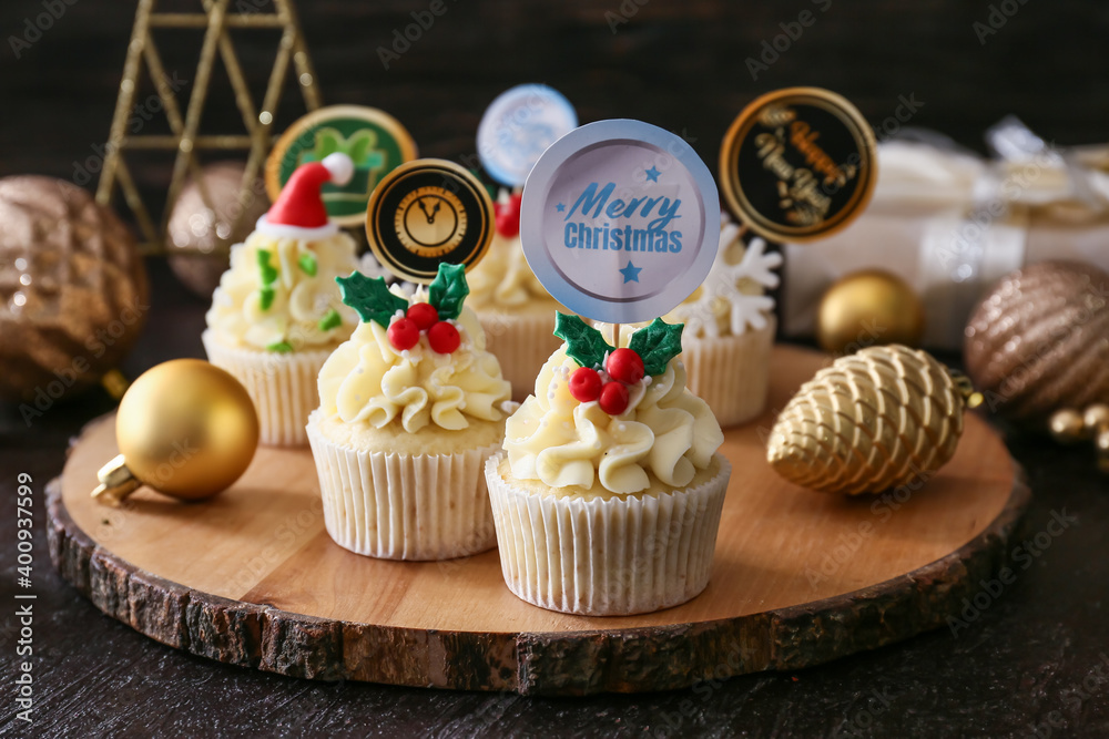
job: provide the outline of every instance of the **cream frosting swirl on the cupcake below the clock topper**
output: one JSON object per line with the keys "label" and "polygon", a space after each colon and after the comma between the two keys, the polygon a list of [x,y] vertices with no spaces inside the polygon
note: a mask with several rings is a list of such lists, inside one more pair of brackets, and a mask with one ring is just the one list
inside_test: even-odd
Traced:
{"label": "cream frosting swirl on the cupcake below the clock topper", "polygon": [[[400,288],[391,291],[407,297]],[[423,291],[410,298],[421,300]],[[501,377],[497,358],[485,349],[477,316],[462,308],[451,324],[461,343],[449,355],[434,351],[426,335],[411,349],[397,350],[386,327],[359,324],[319,372],[323,412],[378,429],[399,419],[409,433],[429,424],[458,431],[468,428],[470,419],[501,420],[511,386]]]}

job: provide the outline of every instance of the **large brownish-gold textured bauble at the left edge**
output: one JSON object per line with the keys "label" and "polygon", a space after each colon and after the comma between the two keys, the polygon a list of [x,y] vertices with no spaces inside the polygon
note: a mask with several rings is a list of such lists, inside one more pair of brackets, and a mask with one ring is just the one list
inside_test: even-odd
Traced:
{"label": "large brownish-gold textured bauble at the left edge", "polygon": [[84,189],[0,179],[0,399],[30,420],[100,382],[150,310],[131,232]]}

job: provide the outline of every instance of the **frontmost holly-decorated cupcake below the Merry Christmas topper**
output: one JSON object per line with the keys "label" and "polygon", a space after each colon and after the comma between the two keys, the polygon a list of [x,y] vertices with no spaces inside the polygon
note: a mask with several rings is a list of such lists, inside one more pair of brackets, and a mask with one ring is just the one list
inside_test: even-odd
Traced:
{"label": "frontmost holly-decorated cupcake below the Merry Christmas topper", "polygon": [[709,583],[731,465],[709,406],[685,387],[680,325],[613,349],[581,319],[486,463],[508,587],[589,616],[648,613]]}

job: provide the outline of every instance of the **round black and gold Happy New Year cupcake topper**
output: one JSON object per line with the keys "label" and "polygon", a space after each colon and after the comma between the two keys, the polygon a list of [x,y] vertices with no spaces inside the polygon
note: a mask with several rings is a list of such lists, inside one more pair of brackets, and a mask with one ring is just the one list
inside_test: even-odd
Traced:
{"label": "round black and gold Happy New Year cupcake topper", "polygon": [[743,109],[720,151],[728,207],[772,242],[843,228],[871,199],[875,141],[862,114],[818,88],[767,93]]}

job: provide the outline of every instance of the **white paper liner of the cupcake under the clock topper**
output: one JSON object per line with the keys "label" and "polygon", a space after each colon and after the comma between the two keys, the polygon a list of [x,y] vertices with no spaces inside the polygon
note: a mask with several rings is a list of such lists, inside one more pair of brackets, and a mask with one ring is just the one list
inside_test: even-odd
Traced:
{"label": "white paper liner of the cupcake under the clock topper", "polygon": [[491,550],[497,532],[482,469],[500,443],[455,454],[356,450],[308,419],[324,525],[339,546],[381,560],[450,560]]}

